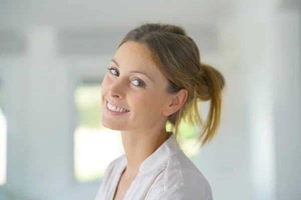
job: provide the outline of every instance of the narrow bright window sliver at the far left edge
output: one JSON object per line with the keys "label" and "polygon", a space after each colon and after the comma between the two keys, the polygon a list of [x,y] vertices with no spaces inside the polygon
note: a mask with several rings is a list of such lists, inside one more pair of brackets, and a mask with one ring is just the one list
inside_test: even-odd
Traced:
{"label": "narrow bright window sliver at the far left edge", "polygon": [[7,181],[7,122],[3,113],[3,91],[0,88],[0,185]]}

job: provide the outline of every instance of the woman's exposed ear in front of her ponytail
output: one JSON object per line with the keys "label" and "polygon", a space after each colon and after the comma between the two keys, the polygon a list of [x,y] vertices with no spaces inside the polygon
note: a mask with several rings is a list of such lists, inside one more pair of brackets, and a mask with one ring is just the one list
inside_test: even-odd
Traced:
{"label": "woman's exposed ear in front of her ponytail", "polygon": [[165,116],[169,116],[175,113],[176,111],[178,111],[185,103],[187,96],[188,96],[187,89],[181,89],[178,93],[171,94],[171,102],[167,106],[167,108],[163,110],[163,114]]}

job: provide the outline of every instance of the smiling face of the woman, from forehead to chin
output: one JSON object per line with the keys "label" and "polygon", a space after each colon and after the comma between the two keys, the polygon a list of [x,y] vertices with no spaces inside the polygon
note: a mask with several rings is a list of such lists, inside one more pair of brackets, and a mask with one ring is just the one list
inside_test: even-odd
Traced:
{"label": "smiling face of the woman, from forehead to chin", "polygon": [[114,130],[165,124],[173,99],[165,90],[167,84],[143,45],[123,43],[102,82],[102,124]]}

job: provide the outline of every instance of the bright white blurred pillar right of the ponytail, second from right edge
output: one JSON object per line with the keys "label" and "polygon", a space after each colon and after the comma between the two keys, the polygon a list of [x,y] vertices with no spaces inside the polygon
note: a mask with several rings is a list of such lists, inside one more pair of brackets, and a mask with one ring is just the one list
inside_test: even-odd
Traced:
{"label": "bright white blurred pillar right of the ponytail, second from right edge", "polygon": [[[273,66],[270,37],[274,0],[244,1],[241,7],[242,56],[246,74],[250,199],[275,199]],[[250,9],[252,8],[252,9]]]}

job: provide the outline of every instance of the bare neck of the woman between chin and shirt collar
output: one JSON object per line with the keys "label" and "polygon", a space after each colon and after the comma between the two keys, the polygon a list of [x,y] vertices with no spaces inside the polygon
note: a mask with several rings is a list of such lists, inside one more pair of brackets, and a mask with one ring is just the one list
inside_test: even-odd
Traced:
{"label": "bare neck of the woman between chin and shirt collar", "polygon": [[154,153],[169,137],[164,127],[148,130],[121,131],[122,144],[127,159],[125,173],[136,176],[141,163]]}

